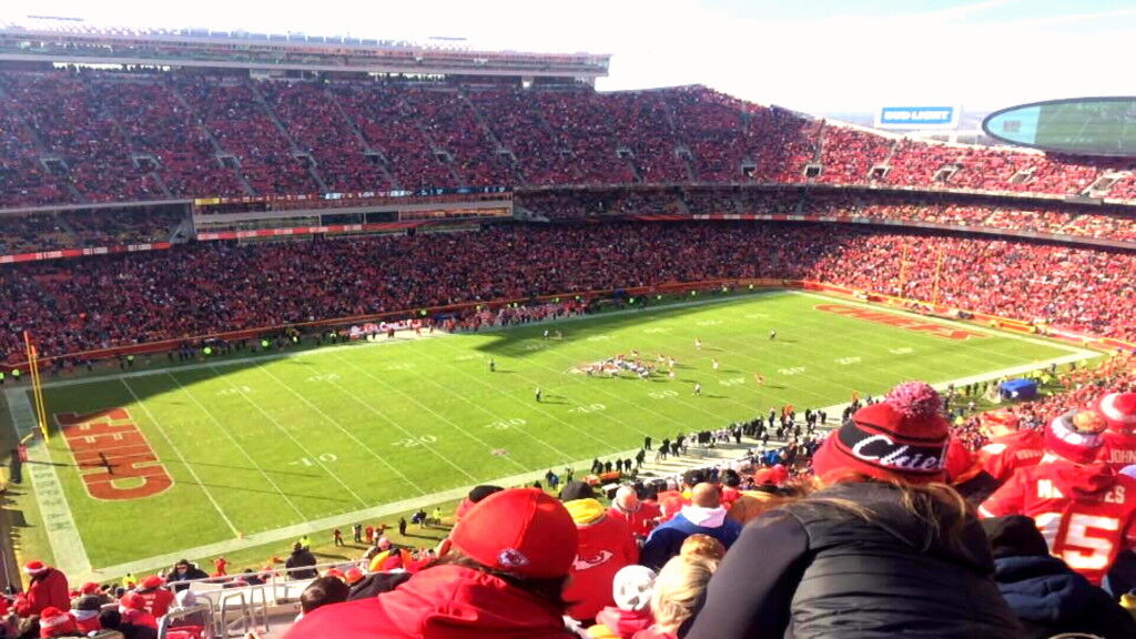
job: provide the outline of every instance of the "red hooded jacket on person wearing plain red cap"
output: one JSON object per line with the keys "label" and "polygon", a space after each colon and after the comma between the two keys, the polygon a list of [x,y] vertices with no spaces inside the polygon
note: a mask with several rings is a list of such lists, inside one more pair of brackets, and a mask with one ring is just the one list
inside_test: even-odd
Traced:
{"label": "red hooded jacket on person wearing plain red cap", "polygon": [[437,565],[370,599],[319,607],[285,639],[571,639],[560,612],[503,579]]}

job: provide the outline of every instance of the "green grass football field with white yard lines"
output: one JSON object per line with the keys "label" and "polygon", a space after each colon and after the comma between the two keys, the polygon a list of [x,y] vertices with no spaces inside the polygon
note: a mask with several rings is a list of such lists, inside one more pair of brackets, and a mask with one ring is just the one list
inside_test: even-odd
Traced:
{"label": "green grass football field with white yard lines", "polygon": [[[47,404],[56,416],[124,409],[115,423],[131,432],[136,426],[142,448],[148,442],[157,456],[147,466],[160,465],[156,472],[173,483],[144,498],[93,497],[83,475],[90,480],[107,467],[91,463],[90,453],[77,457],[77,430],[72,447],[56,433],[45,450],[33,448],[33,462],[39,454],[50,463],[27,464],[25,475],[40,492],[58,565],[84,572],[152,559],[158,566],[194,548],[203,554],[256,539],[290,540],[298,529],[279,529],[306,522],[346,532],[361,511],[443,501],[477,483],[634,449],[646,434],[720,428],[784,404],[830,406],[852,391],[875,395],[905,379],[945,382],[1084,356],[961,325],[952,327],[976,334],[947,339],[815,308],[822,304],[852,306],[776,292],[51,382]],[[562,331],[563,340],[543,340],[545,327]],[[770,329],[778,331],[774,341]],[[660,352],[675,357],[677,379],[573,372],[632,349],[652,360]],[[496,372],[488,371],[490,358]],[[717,373],[712,358],[721,364]],[[759,372],[766,377],[760,388]],[[695,382],[703,388],[699,397]],[[9,390],[7,400],[26,432],[28,393]],[[130,447],[116,466],[120,474],[130,474],[131,459],[145,458],[136,438],[128,439],[119,442]],[[100,439],[98,450],[114,456],[116,441]],[[142,483],[116,481],[118,489]]]}

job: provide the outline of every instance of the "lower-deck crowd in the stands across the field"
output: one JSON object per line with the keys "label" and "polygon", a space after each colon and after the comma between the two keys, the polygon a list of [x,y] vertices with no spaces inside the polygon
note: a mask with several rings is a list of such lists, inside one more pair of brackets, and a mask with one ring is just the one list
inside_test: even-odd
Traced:
{"label": "lower-deck crowd in the stands across the field", "polygon": [[1130,254],[855,227],[612,223],[197,242],[6,266],[0,285],[9,304],[0,318],[12,330],[0,349],[5,360],[20,360],[23,330],[52,356],[460,302],[747,277],[824,281],[1136,338],[1127,310],[1136,294]]}

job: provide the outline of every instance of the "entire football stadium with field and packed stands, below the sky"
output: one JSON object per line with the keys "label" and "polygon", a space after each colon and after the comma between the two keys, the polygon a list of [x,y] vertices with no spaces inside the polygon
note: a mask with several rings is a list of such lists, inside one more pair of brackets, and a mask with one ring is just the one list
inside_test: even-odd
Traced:
{"label": "entire football stadium with field and packed stands, below the sky", "polygon": [[0,24],[0,636],[1136,637],[1136,101],[613,63]]}

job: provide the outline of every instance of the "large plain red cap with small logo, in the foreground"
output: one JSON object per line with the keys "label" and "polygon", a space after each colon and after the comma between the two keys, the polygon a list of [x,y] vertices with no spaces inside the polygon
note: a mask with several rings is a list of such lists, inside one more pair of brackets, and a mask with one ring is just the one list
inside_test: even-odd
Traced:
{"label": "large plain red cap with small logo, in the foreground", "polygon": [[576,558],[576,523],[568,509],[528,488],[486,497],[466,513],[450,539],[475,562],[518,576],[563,576]]}

